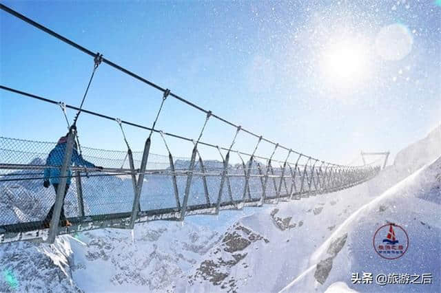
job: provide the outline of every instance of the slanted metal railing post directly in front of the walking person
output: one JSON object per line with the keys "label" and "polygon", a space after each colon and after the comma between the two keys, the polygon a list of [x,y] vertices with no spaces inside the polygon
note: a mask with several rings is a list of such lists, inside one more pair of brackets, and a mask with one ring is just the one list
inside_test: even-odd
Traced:
{"label": "slanted metal railing post directly in front of the walking person", "polygon": [[54,210],[52,211],[52,219],[50,220],[50,229],[48,239],[46,240],[48,243],[54,243],[55,237],[58,234],[58,224],[60,220],[61,208],[64,204],[64,193],[66,184],[68,182],[68,169],[72,160],[72,151],[74,149],[74,138],[76,133],[76,127],[72,125],[69,129],[68,133],[68,142],[66,142],[63,165],[61,166],[60,171],[60,182],[57,188],[57,195],[55,197]]}

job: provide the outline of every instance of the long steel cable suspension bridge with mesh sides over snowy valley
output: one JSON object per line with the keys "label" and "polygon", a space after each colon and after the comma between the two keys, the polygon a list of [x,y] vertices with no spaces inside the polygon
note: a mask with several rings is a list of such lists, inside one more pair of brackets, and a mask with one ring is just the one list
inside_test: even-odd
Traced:
{"label": "long steel cable suspension bridge with mesh sides over snowy valley", "polygon": [[[145,221],[183,221],[187,215],[217,215],[222,210],[240,210],[250,206],[288,202],[350,188],[370,180],[380,171],[380,166],[373,164],[345,166],[325,162],[273,142],[112,63],[102,54],[74,43],[3,4],[0,4],[0,8],[3,12],[92,56],[94,61],[92,74],[79,107],[0,85],[3,91],[13,93],[17,97],[59,107],[69,128],[65,151],[61,158],[63,164],[57,166],[46,163],[50,151],[57,145],[56,142],[0,137],[0,243],[25,240],[53,243],[57,235],[85,230],[133,229],[135,224]],[[161,92],[161,106],[152,126],[147,127],[83,108],[88,89],[101,63],[114,67]],[[183,102],[205,115],[205,122],[196,138],[187,138],[155,128],[158,118],[163,113],[163,105],[170,98]],[[72,124],[66,109],[76,111]],[[81,146],[76,133],[76,121],[81,113],[116,123],[121,130],[127,151]],[[202,140],[210,119],[219,120],[225,127],[236,130],[227,146],[218,146]],[[125,135],[125,127],[150,131],[142,151],[132,151]],[[154,139],[154,133],[157,139]],[[252,153],[234,149],[238,133],[245,133],[256,139]],[[193,148],[189,158],[174,157],[167,144],[169,138],[191,142]],[[271,153],[266,156],[256,154],[261,142],[273,146]],[[153,143],[161,144],[167,155],[150,153]],[[200,146],[215,149],[219,154],[218,158],[203,159],[199,151]],[[81,158],[103,167],[71,166],[72,153],[76,149]],[[285,152],[285,160],[276,160],[276,151]],[[232,157],[235,157],[238,163],[233,164]],[[50,169],[59,171],[57,192],[52,191],[52,188],[43,187],[44,171]],[[71,177],[72,182],[64,198],[63,193]],[[52,204],[54,212],[47,228],[43,219]],[[63,205],[72,226],[59,225]]]}

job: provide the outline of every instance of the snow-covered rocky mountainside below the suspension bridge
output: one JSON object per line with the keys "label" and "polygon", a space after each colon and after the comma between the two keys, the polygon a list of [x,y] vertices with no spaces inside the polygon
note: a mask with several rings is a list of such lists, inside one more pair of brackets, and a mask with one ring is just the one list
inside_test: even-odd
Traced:
{"label": "snow-covered rocky mountainside below the suspension bridge", "polygon": [[[184,224],[155,221],[136,225],[134,231],[94,230],[57,237],[53,245],[3,244],[0,287],[32,292],[277,292],[288,286],[296,292],[341,292],[345,286],[376,290],[378,286],[351,284],[351,273],[362,270],[436,274],[441,249],[437,131],[441,127],[402,150],[373,180],[338,193],[187,217]],[[408,162],[424,167],[414,173]],[[392,266],[371,243],[363,244],[386,221],[407,225],[411,243],[403,261]],[[421,256],[418,248],[427,254]],[[438,266],[434,281],[439,282],[440,271]]]}

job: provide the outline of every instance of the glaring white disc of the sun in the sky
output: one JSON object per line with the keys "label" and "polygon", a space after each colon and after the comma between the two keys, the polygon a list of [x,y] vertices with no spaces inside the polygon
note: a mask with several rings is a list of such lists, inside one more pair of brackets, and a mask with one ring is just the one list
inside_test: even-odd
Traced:
{"label": "glaring white disc of the sun in the sky", "polygon": [[351,87],[367,73],[367,54],[360,43],[332,43],[327,46],[323,56],[324,74],[335,86]]}

